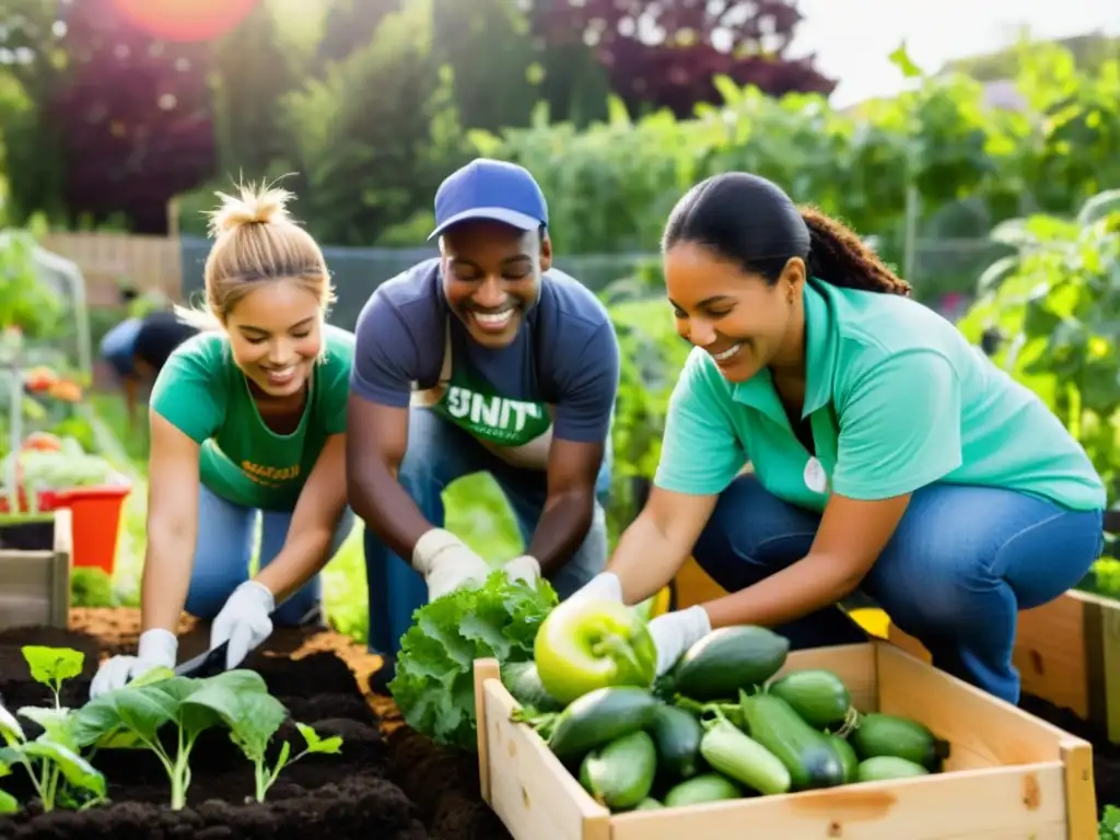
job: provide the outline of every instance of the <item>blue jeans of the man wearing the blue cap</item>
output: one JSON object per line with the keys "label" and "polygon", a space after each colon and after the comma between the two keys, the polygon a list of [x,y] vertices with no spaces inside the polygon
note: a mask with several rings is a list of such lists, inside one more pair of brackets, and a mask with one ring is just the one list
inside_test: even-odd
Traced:
{"label": "blue jeans of the man wearing the blue cap", "polygon": [[[444,491],[457,478],[475,473],[489,473],[502,488],[528,545],[548,496],[545,473],[511,466],[436,412],[412,407],[408,449],[398,470],[398,480],[424,519],[442,528]],[[609,482],[609,465],[604,458],[596,482],[598,500],[591,528],[551,581],[561,599],[606,567],[607,522],[603,498]],[[365,529],[365,568],[370,589],[370,651],[395,656],[400,652],[401,636],[412,626],[413,612],[428,603],[428,587],[423,576],[393,553],[368,526]]]}

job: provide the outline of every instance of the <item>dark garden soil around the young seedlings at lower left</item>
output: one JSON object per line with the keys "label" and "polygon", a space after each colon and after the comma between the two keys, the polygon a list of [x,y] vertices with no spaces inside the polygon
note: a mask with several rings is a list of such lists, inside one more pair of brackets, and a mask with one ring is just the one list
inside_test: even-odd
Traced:
{"label": "dark garden soil around the young seedlings at lower left", "polygon": [[[100,659],[134,652],[138,615],[130,609],[74,609],[68,632],[0,632],[0,701],[15,711],[44,704],[49,692],[30,679],[24,644],[73,647],[86,654],[81,678],[62,701],[80,706]],[[206,647],[208,627],[185,620],[180,661]],[[289,766],[264,803],[246,803],[252,765],[221,732],[204,732],[192,754],[187,808],[167,806],[169,785],[153,755],[103,750],[95,765],[109,781],[112,804],[83,812],[26,810],[0,818],[0,840],[488,840],[508,838],[482,801],[474,756],[435,746],[400,721],[392,702],[363,694],[377,664],[348,638],[328,631],[278,631],[243,666],[256,670],[291,712],[292,721],[343,738],[339,755],[307,756]],[[35,727],[21,720],[34,737]],[[207,737],[211,736],[211,737]],[[302,739],[286,725],[274,741]],[[273,756],[274,757],[274,756]],[[34,797],[21,767],[2,786],[20,801]]]}

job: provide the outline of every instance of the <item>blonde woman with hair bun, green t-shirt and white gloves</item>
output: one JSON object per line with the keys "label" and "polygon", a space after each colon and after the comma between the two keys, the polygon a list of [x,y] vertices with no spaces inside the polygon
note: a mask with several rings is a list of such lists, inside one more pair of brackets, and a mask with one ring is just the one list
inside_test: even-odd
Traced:
{"label": "blonde woman with hair bun, green t-shirt and white gloves", "polygon": [[[278,625],[320,615],[319,570],[353,526],[345,428],[353,334],[326,323],[334,300],[315,240],[262,185],[218,193],[206,304],[179,308],[202,332],[152,388],[148,549],[141,635],[91,694],[174,668],[184,609],[213,619],[235,668]],[[258,573],[250,579],[256,515]]]}

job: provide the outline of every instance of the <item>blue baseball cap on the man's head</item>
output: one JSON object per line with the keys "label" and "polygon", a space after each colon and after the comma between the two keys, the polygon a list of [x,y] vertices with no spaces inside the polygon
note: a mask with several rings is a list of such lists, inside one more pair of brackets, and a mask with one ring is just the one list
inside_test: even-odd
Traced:
{"label": "blue baseball cap on the man's head", "polygon": [[458,222],[489,218],[521,231],[549,223],[544,194],[529,170],[516,164],[477,158],[451,172],[436,190],[436,230],[439,236]]}

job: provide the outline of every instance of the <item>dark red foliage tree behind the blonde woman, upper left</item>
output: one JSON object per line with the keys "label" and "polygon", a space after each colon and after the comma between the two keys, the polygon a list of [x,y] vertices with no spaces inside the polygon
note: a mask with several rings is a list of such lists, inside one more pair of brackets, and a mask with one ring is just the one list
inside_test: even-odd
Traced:
{"label": "dark red foliage tree behind the blonde woman, upper left", "polygon": [[106,0],[60,3],[71,66],[49,103],[62,138],[71,221],[123,218],[167,232],[167,202],[215,167],[207,44],[174,44],[124,24]]}

